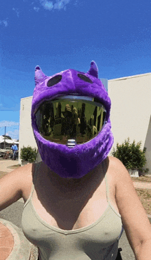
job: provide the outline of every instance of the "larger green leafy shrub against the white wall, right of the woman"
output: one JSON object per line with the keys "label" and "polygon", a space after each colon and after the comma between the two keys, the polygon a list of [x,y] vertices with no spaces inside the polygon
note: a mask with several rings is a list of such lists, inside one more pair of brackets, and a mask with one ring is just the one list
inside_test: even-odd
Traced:
{"label": "larger green leafy shrub against the white wall, right of the woman", "polygon": [[146,164],[146,148],[141,150],[141,141],[135,143],[135,140],[130,143],[130,138],[124,141],[121,145],[117,143],[116,149],[113,148],[111,154],[113,157],[117,157],[126,167],[126,169],[139,170],[140,173],[148,172],[148,168],[143,167]]}

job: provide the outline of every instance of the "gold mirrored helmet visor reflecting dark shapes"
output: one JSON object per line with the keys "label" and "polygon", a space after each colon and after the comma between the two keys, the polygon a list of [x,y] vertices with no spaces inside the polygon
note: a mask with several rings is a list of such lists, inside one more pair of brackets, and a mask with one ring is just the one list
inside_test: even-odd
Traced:
{"label": "gold mirrored helmet visor reflecting dark shapes", "polygon": [[36,126],[41,136],[49,141],[67,144],[69,139],[74,139],[80,144],[90,141],[102,130],[105,118],[104,106],[93,98],[59,97],[40,105]]}

